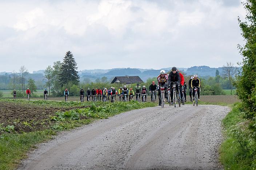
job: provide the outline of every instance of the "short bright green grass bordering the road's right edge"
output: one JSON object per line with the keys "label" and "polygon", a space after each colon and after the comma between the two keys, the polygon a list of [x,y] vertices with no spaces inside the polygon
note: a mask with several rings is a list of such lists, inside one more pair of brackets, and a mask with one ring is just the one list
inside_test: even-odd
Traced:
{"label": "short bright green grass bordering the road's right edge", "polygon": [[240,153],[240,145],[239,143],[231,136],[228,136],[228,132],[231,130],[233,125],[237,123],[244,122],[242,113],[242,104],[235,103],[232,106],[232,110],[228,113],[228,115],[222,120],[222,124],[224,126],[224,136],[227,139],[220,146],[220,162],[224,165],[225,169],[229,170],[247,170],[251,169],[251,158],[243,158],[241,159]]}

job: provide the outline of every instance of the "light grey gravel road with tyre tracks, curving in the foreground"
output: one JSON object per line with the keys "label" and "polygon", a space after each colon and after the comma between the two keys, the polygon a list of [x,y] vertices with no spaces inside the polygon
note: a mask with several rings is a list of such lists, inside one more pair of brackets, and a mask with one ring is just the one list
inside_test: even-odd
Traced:
{"label": "light grey gravel road with tyre tracks, curving in the foreground", "polygon": [[63,132],[39,145],[23,169],[221,169],[226,106],[151,107]]}

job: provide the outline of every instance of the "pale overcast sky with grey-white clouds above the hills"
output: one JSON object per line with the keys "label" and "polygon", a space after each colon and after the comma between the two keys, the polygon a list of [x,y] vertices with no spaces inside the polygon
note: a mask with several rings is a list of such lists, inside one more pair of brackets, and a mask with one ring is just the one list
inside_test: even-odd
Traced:
{"label": "pale overcast sky with grey-white clouds above the hills", "polygon": [[78,70],[242,59],[240,0],[1,0],[0,7],[0,72],[45,69],[67,51]]}

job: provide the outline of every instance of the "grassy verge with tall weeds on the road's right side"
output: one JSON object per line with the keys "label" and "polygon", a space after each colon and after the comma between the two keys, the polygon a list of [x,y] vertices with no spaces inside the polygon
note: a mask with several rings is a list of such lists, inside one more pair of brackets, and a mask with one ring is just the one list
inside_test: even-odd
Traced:
{"label": "grassy verge with tall weeds on the road's right side", "polygon": [[255,138],[250,136],[249,122],[243,118],[241,103],[235,103],[232,110],[222,120],[226,140],[220,147],[220,162],[225,169],[247,170],[255,162]]}

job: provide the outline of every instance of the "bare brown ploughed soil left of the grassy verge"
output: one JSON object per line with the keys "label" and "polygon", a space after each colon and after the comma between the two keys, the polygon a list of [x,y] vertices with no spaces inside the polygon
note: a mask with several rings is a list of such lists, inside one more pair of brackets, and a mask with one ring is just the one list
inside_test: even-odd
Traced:
{"label": "bare brown ploughed soil left of the grassy verge", "polygon": [[51,116],[54,116],[55,112],[71,109],[76,108],[45,107],[13,102],[0,102],[0,126],[6,127],[8,124],[14,125],[15,131],[18,133],[47,129],[49,126],[56,123],[51,120]]}

